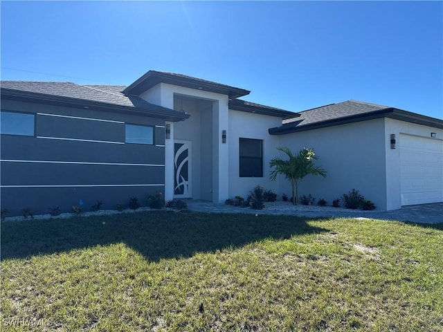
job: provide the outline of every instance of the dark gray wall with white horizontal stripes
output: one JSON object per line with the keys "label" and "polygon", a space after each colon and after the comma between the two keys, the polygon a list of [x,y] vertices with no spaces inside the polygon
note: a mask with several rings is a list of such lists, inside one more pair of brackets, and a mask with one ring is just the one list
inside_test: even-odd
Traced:
{"label": "dark gray wall with white horizontal stripes", "polygon": [[[1,208],[9,215],[70,212],[80,199],[84,210],[99,200],[115,209],[132,196],[145,206],[148,194],[164,192],[163,120],[10,100],[1,109],[35,113],[35,136],[1,135]],[[125,143],[125,122],[152,126],[154,145]]]}

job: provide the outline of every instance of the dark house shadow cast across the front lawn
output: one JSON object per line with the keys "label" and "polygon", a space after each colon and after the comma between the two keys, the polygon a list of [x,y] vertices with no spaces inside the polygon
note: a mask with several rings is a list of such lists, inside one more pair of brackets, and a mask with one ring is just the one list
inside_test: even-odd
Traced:
{"label": "dark house shadow cast across the front lawn", "polygon": [[124,242],[146,259],[158,261],[240,247],[260,239],[288,239],[327,231],[308,225],[307,220],[292,216],[159,211],[6,222],[1,224],[1,259]]}

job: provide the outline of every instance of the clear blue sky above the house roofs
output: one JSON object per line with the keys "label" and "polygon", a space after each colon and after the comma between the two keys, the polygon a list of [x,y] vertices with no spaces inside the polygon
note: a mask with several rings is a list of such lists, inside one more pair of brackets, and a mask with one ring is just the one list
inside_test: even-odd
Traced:
{"label": "clear blue sky above the house roofs", "polygon": [[443,118],[442,1],[1,1],[1,79],[152,70],[302,111],[362,100]]}

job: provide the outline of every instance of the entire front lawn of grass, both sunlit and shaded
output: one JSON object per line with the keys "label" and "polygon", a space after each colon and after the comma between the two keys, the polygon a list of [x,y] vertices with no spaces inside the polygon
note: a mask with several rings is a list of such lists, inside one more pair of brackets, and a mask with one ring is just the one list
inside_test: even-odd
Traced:
{"label": "entire front lawn of grass, both sunlit and shaded", "polygon": [[2,331],[442,331],[443,224],[145,212],[1,224]]}

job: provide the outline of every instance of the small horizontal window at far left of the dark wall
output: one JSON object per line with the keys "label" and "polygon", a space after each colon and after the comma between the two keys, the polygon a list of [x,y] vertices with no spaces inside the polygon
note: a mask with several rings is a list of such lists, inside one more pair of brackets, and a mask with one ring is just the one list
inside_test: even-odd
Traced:
{"label": "small horizontal window at far left of the dark wall", "polygon": [[1,112],[1,133],[9,135],[34,136],[33,114]]}

